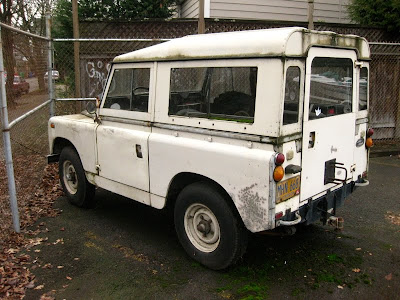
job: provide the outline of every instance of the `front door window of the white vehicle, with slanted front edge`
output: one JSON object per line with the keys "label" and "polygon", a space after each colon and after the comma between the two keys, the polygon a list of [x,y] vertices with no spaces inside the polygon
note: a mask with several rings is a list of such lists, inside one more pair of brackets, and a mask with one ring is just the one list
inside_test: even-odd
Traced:
{"label": "front door window of the white vehicle, with slanted front edge", "polygon": [[150,69],[116,69],[104,108],[148,112]]}

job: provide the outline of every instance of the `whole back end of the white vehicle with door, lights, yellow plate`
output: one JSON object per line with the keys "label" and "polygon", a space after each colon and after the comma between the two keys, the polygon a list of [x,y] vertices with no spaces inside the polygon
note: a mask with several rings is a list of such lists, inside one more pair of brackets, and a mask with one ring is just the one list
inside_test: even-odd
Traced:
{"label": "whole back end of the white vehicle with door, lights, yellow plate", "polygon": [[368,184],[369,63],[360,56],[357,49],[311,47],[305,61],[286,62],[282,131],[301,134],[277,147],[276,226],[338,224],[337,208]]}

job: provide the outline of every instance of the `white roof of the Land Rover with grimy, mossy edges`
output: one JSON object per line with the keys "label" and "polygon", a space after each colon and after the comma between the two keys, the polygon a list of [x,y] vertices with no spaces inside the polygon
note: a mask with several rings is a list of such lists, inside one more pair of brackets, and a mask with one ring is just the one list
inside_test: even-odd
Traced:
{"label": "white roof of the Land Rover with grimy, mossy edges", "polygon": [[114,62],[167,61],[239,57],[304,57],[311,46],[355,49],[370,57],[368,43],[355,35],[310,31],[301,27],[189,35],[117,56]]}

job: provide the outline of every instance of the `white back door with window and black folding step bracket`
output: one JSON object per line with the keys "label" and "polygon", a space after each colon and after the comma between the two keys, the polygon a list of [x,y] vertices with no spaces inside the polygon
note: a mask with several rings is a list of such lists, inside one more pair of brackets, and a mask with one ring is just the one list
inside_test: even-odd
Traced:
{"label": "white back door with window and black folding step bracket", "polygon": [[352,178],[356,60],[352,50],[309,51],[300,201],[316,198]]}

